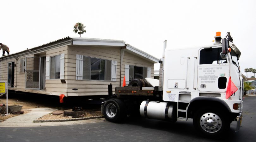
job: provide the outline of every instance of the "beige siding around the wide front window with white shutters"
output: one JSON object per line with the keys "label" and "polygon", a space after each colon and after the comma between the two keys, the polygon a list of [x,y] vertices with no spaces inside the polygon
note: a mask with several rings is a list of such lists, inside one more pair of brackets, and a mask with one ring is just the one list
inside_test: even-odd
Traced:
{"label": "beige siding around the wide front window with white shutters", "polygon": [[[65,64],[68,96],[107,95],[107,85],[110,83],[112,83],[114,91],[114,88],[120,84],[120,50],[120,47],[68,46],[67,62]],[[105,60],[116,60],[117,81],[76,80],[76,54]],[[73,88],[78,90],[72,90]]]}

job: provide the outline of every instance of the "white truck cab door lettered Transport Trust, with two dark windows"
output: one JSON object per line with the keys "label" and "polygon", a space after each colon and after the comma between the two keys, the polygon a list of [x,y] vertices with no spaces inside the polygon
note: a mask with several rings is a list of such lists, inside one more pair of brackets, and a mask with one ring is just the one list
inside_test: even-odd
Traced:
{"label": "white truck cab door lettered Transport Trust, with two dark windows", "polygon": [[221,47],[201,48],[198,60],[197,88],[204,92],[225,92],[229,79],[229,60],[222,59]]}

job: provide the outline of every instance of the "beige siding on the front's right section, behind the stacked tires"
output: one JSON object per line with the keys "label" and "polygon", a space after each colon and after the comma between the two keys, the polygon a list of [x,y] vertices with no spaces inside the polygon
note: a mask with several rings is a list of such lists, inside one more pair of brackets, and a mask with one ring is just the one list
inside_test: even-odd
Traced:
{"label": "beige siding on the front's right section, behind the stacked tires", "polygon": [[[125,65],[134,65],[134,66],[140,66],[140,67],[151,67],[151,78],[154,78],[154,63],[149,62],[148,60],[142,59],[134,54],[131,54],[129,52],[124,53],[124,59],[122,63],[122,72],[121,72],[121,86],[123,86],[123,80],[125,76]],[[127,79],[128,77],[125,77]],[[127,86],[128,84],[126,84]]]}

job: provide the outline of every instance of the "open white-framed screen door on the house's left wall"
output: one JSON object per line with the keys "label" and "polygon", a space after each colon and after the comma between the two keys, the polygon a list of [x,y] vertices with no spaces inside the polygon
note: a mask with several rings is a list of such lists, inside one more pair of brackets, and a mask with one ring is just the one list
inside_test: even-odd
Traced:
{"label": "open white-framed screen door on the house's left wall", "polygon": [[40,89],[40,57],[26,57],[26,88]]}

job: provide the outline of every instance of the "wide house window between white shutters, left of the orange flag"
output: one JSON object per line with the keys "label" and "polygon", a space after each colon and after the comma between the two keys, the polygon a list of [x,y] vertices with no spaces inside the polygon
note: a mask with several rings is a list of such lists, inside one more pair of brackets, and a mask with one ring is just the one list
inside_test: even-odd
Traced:
{"label": "wide house window between white shutters, left of the orange flag", "polygon": [[111,61],[83,56],[83,79],[111,80]]}

